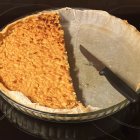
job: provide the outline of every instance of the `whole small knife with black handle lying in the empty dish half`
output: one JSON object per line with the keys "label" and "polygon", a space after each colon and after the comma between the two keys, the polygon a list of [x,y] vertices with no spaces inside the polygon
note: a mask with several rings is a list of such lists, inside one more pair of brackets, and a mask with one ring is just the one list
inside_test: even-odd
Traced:
{"label": "whole small knife with black handle lying in the empty dish half", "polygon": [[106,79],[111,83],[111,85],[118,90],[124,97],[126,97],[130,102],[134,103],[139,100],[139,95],[127,85],[121,78],[119,78],[114,72],[112,72],[108,67],[106,67],[98,58],[92,55],[87,49],[80,45],[80,50],[86,59],[92,64],[100,75],[106,77]]}

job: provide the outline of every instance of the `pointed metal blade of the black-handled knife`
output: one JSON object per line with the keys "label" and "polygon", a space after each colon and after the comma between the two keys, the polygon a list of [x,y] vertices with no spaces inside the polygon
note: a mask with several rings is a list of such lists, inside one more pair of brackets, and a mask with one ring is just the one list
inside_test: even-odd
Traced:
{"label": "pointed metal blade of the black-handled knife", "polygon": [[98,60],[94,55],[92,55],[87,49],[85,49],[82,45],[80,45],[80,50],[85,58],[92,64],[98,71],[101,71],[106,66]]}

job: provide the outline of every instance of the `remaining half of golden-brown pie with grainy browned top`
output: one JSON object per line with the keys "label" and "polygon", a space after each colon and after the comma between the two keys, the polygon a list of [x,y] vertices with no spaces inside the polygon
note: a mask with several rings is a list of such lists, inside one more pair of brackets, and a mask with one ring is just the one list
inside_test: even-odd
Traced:
{"label": "remaining half of golden-brown pie with grainy browned top", "polygon": [[80,107],[86,112],[74,92],[59,19],[55,12],[39,13],[2,30],[0,89],[18,91],[32,103],[54,110]]}

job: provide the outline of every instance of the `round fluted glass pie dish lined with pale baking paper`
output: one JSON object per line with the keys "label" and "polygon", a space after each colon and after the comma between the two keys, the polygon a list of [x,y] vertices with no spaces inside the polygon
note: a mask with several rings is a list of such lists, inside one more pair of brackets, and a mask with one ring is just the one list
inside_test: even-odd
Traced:
{"label": "round fluted glass pie dish lined with pale baking paper", "polygon": [[[88,64],[87,60],[80,53],[79,45],[82,44],[95,56],[98,56],[97,58],[136,90],[140,77],[138,73],[139,68],[137,67],[140,61],[140,46],[138,43],[140,35],[136,28],[105,11],[72,8],[62,8],[53,11],[59,12],[65,32],[66,47],[69,46],[73,50],[75,71],[77,72],[79,88],[82,89],[81,95],[86,108],[80,104],[82,109],[55,109],[54,111],[52,108],[47,108],[46,110],[44,106],[39,106],[38,108],[37,103],[31,103],[20,92],[16,91],[17,96],[15,97],[15,91],[7,91],[7,89],[3,88],[1,95],[23,112],[50,120],[97,119],[110,115],[128,105],[129,101],[120,95],[104,77],[99,76],[98,72]],[[41,13],[46,12],[43,11]],[[7,98],[7,96],[9,97]],[[22,100],[20,100],[21,98]],[[11,99],[14,99],[16,102]]]}

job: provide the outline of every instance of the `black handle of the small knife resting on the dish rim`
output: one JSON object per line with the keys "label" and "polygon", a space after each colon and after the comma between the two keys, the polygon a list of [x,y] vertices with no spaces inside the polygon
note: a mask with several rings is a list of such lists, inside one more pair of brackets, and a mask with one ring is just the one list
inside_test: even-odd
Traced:
{"label": "black handle of the small knife resting on the dish rim", "polygon": [[105,67],[99,73],[100,75],[104,75],[111,83],[111,85],[115,89],[117,89],[123,96],[125,96],[130,102],[134,103],[139,100],[139,95],[109,68]]}

